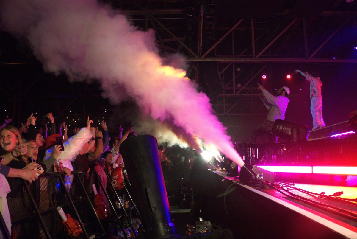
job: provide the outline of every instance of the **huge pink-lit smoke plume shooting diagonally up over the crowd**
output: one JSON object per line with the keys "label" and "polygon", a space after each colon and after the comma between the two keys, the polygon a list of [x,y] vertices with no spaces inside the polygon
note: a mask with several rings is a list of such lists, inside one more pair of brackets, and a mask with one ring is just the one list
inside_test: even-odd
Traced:
{"label": "huge pink-lit smoke plume shooting diagonally up over the crowd", "polygon": [[25,37],[47,71],[65,72],[77,81],[98,79],[113,104],[130,96],[144,115],[175,125],[168,128],[176,135],[177,128],[184,129],[191,141],[202,139],[244,164],[212,114],[209,98],[196,91],[182,69],[164,67],[153,30],[138,30],[94,0],[2,1],[0,11],[2,29]]}

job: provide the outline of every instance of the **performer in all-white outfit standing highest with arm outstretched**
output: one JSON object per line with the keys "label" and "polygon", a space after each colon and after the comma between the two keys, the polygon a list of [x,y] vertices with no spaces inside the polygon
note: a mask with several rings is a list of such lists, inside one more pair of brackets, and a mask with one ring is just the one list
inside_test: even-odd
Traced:
{"label": "performer in all-white outfit standing highest with arm outstretched", "polygon": [[312,114],[312,130],[317,128],[325,127],[325,123],[322,118],[322,94],[321,87],[322,82],[317,73],[309,74],[308,72],[302,72],[301,70],[295,70],[295,72],[300,72],[305,78],[310,81],[310,100],[311,100],[311,114]]}

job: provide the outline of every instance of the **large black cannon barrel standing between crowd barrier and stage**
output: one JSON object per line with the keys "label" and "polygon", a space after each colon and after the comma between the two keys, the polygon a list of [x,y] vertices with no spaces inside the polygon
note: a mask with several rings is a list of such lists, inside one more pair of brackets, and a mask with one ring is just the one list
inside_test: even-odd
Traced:
{"label": "large black cannon barrel standing between crowd barrier and stage", "polygon": [[119,152],[123,157],[142,218],[145,238],[178,236],[171,221],[156,138],[151,135],[129,137],[121,144]]}

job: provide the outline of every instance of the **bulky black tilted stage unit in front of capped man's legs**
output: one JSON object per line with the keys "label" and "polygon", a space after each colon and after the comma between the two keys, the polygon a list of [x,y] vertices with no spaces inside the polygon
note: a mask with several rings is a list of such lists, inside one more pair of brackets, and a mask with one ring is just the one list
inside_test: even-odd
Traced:
{"label": "bulky black tilted stage unit in front of capped man's legs", "polygon": [[274,122],[272,133],[291,142],[306,141],[309,137],[307,127],[281,119]]}

